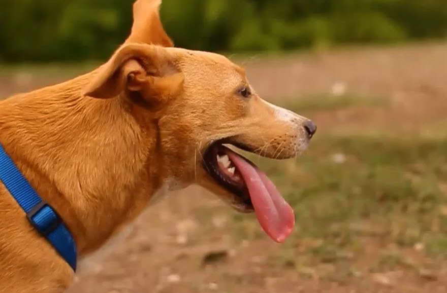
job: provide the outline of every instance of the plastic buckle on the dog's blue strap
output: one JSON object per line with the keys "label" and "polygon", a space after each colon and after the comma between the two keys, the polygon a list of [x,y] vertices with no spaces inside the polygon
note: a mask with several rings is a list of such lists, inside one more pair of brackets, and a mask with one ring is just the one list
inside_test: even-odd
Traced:
{"label": "plastic buckle on the dog's blue strap", "polygon": [[33,207],[26,214],[26,217],[28,218],[29,223],[31,223],[31,225],[33,225],[33,227],[43,236],[48,236],[62,224],[60,216],[45,201],[42,201]]}

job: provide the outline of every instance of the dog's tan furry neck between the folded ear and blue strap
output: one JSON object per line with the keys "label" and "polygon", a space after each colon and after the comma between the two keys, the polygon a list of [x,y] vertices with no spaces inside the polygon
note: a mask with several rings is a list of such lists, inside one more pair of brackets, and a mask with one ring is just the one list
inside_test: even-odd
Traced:
{"label": "dog's tan furry neck between the folded ear and blue strap", "polygon": [[81,255],[140,214],[164,178],[156,121],[141,123],[125,99],[81,96],[94,75],[0,102],[1,143]]}

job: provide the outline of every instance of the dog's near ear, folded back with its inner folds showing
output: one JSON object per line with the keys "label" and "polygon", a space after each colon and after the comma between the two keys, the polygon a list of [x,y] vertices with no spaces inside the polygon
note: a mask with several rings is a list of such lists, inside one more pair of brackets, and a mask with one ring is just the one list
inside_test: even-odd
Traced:
{"label": "dog's near ear, folded back with its inner folds showing", "polygon": [[183,86],[183,75],[174,62],[175,55],[162,47],[123,45],[98,69],[83,95],[107,99],[138,92],[149,104],[169,99]]}

